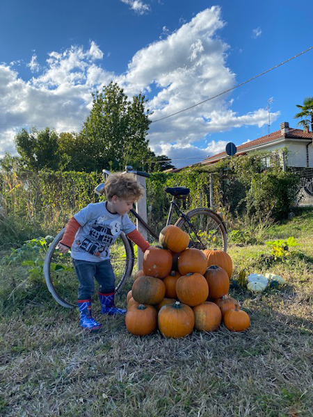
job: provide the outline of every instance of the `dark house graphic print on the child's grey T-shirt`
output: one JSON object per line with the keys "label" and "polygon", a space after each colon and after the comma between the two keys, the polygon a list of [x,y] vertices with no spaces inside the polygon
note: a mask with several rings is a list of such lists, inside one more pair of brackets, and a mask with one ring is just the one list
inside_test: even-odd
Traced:
{"label": "dark house graphic print on the child's grey T-shirt", "polygon": [[88,252],[95,256],[109,256],[109,247],[120,234],[121,222],[113,220],[111,223],[106,223],[103,220],[104,218],[95,220],[83,240],[76,240],[79,252]]}

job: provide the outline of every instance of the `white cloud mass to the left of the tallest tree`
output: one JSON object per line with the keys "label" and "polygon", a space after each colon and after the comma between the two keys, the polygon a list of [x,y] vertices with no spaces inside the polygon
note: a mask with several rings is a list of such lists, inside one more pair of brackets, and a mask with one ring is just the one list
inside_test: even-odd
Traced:
{"label": "white cloud mass to the left of the tallest tree", "polygon": [[14,136],[23,127],[79,131],[89,113],[91,92],[113,79],[95,63],[102,56],[95,42],[86,51],[82,47],[53,51],[45,69],[30,81],[9,65],[0,65],[1,154],[13,151]]}

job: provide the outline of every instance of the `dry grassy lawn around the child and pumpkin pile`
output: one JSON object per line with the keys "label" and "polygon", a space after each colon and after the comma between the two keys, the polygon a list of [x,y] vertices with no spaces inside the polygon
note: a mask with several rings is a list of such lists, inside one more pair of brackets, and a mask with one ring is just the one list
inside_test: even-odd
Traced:
{"label": "dry grassy lawn around the child and pumpkin pile", "polygon": [[[313,416],[313,211],[267,231],[300,246],[274,260],[266,245],[231,245],[233,279],[275,272],[287,285],[255,295],[232,288],[251,318],[247,332],[136,337],[125,318],[95,317],[84,334],[76,310],[51,299],[27,268],[0,265],[1,416]],[[2,253],[3,255],[6,253]],[[131,280],[118,305],[125,305]]]}

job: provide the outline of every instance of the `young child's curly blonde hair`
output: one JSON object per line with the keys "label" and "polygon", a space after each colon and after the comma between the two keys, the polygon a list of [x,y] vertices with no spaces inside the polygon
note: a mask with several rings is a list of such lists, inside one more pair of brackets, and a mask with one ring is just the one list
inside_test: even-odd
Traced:
{"label": "young child's curly blonde hair", "polygon": [[106,199],[111,201],[113,195],[122,199],[134,199],[135,202],[143,197],[143,188],[136,181],[134,174],[116,172],[109,175],[104,183]]}

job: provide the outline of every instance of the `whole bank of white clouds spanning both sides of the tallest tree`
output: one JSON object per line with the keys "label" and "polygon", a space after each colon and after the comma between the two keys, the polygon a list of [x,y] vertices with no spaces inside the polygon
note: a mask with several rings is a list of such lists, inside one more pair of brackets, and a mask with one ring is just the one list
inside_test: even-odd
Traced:
{"label": "whole bank of white clouds spanning both sides of the tallest tree", "polygon": [[[12,152],[14,136],[22,127],[79,131],[92,105],[91,92],[110,81],[118,82],[129,97],[148,93],[154,121],[232,88],[235,76],[225,61],[229,46],[218,37],[223,26],[219,7],[203,10],[166,38],[137,51],[124,74],[104,70],[107,57],[95,42],[90,42],[88,49],[72,46],[49,52],[45,67],[29,81],[20,78],[12,66],[0,65],[2,154]],[[36,68],[35,54],[31,65]],[[225,142],[211,140],[214,133],[267,124],[267,109],[239,115],[231,110],[232,101],[230,95],[222,95],[153,122],[149,133],[152,149],[169,157],[181,156],[182,160],[173,160],[175,164],[188,165],[197,162],[193,157],[205,158],[225,149]],[[271,120],[278,115],[271,113]],[[195,142],[201,140],[203,147],[199,149]]]}

